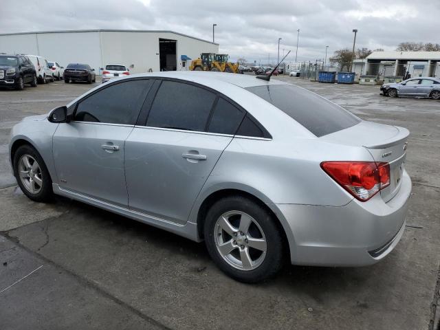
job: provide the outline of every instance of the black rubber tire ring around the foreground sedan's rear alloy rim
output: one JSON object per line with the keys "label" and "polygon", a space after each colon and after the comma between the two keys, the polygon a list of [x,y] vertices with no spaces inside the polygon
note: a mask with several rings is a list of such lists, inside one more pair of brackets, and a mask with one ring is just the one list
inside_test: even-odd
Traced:
{"label": "black rubber tire ring around the foreground sedan's rear alloy rim", "polygon": [[[267,243],[265,257],[262,263],[253,270],[237,269],[225,261],[219,250],[217,250],[215,241],[217,239],[217,234],[214,233],[214,230],[217,230],[217,219],[219,219],[222,214],[225,214],[225,212],[230,212],[232,210],[249,214],[254,221],[258,223],[265,236],[265,241]],[[208,249],[212,260],[220,270],[237,281],[258,283],[274,276],[283,266],[285,242],[281,230],[278,220],[274,219],[273,215],[263,206],[252,201],[252,199],[237,195],[219,199],[219,201],[211,206],[206,214],[203,235],[206,248]],[[234,237],[232,237],[232,239],[234,239]],[[241,246],[243,248],[244,245]],[[240,250],[241,249],[239,249],[239,251]]]}

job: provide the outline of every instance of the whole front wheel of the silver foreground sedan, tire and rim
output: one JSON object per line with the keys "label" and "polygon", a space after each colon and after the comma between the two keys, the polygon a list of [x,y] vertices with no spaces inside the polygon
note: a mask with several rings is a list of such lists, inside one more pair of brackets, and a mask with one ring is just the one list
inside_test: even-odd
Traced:
{"label": "whole front wheel of the silver foreground sedan, tire and rim", "polygon": [[14,155],[14,175],[23,193],[33,201],[49,201],[52,180],[39,153],[29,145],[20,146]]}

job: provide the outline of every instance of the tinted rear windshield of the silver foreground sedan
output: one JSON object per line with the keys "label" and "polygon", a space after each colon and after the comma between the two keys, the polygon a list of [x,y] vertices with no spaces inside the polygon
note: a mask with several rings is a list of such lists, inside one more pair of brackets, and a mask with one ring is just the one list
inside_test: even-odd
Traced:
{"label": "tinted rear windshield of the silver foreground sedan", "polygon": [[297,86],[266,85],[246,89],[281,109],[318,137],[360,122],[349,111]]}

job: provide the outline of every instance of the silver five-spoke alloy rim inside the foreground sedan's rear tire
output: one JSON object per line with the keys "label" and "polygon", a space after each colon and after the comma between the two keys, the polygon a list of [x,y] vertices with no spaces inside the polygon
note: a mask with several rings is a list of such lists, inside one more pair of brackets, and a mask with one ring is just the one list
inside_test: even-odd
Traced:
{"label": "silver five-spoke alloy rim inside the foreground sedan's rear tire", "polygon": [[214,236],[219,254],[237,270],[253,270],[263,263],[267,250],[265,234],[249,214],[225,212],[214,225]]}

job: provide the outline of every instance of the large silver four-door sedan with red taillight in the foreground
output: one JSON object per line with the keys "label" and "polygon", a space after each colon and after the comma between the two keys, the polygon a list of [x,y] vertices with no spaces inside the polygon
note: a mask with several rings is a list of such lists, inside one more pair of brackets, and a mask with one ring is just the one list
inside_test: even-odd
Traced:
{"label": "large silver four-door sedan with red taillight in the foreground", "polygon": [[408,130],[255,76],[112,80],[12,129],[30,199],[52,193],[194,241],[245,282],[383,259],[405,228]]}

